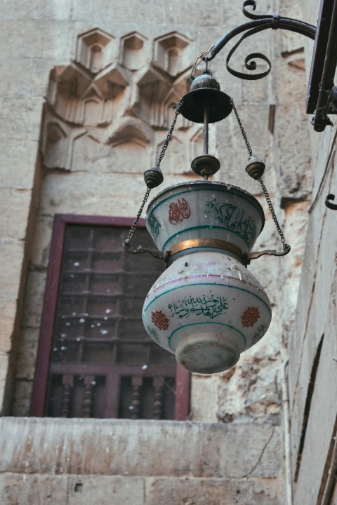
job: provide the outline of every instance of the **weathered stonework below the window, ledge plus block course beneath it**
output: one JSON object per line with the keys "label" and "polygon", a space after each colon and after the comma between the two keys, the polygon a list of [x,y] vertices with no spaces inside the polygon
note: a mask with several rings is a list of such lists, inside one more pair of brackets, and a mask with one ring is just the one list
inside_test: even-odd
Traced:
{"label": "weathered stonework below the window, ledge plus block course beneath it", "polygon": [[240,424],[7,417],[0,429],[4,504],[283,504],[279,427],[247,438]]}

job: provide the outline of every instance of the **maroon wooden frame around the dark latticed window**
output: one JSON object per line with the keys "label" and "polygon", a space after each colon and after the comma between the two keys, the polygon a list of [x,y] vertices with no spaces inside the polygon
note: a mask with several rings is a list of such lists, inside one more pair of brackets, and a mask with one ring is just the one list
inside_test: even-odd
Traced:
{"label": "maroon wooden frame around the dark latticed window", "polygon": [[[60,274],[62,269],[62,253],[65,245],[65,230],[68,224],[84,224],[100,227],[130,227],[133,220],[125,217],[100,217],[84,215],[55,215],[53,225],[53,236],[51,239],[51,253],[48,264],[48,273],[46,278],[46,291],[44,297],[44,308],[41,317],[41,330],[39,337],[39,347],[37,352],[37,364],[32,391],[32,402],[30,415],[35,417],[44,417],[46,415],[46,401],[48,396],[48,379],[51,370],[51,356],[53,348],[53,333],[55,325],[55,316],[58,307],[58,295],[60,286]],[[145,222],[140,220],[140,227],[145,227]],[[136,261],[136,258],[135,258]],[[92,373],[97,373],[97,366],[93,368]],[[157,365],[158,367],[160,365]],[[58,365],[53,365],[58,370]],[[59,365],[60,370],[62,365]],[[103,367],[104,368],[104,367]],[[105,368],[107,368],[105,366]],[[118,368],[118,367],[117,367]],[[126,368],[124,367],[124,374]],[[81,365],[79,365],[81,372]],[[87,365],[87,372],[88,370]],[[104,370],[103,370],[104,372]],[[107,376],[107,386],[110,381],[116,378],[116,370],[113,366],[110,370],[105,370]],[[127,372],[127,370],[126,370]],[[123,375],[123,372],[121,373]],[[146,376],[146,372],[144,372]],[[108,406],[108,415],[106,417],[118,417],[116,408]],[[175,419],[183,421],[187,419],[190,412],[190,373],[180,365],[176,366],[176,394],[175,394]]]}

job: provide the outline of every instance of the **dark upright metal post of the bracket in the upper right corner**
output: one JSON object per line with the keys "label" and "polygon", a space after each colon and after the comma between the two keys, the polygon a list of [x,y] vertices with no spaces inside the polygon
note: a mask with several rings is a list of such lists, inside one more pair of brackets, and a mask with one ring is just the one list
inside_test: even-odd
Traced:
{"label": "dark upright metal post of the bracket in the upper right corner", "polygon": [[323,131],[327,124],[331,124],[327,117],[326,107],[329,105],[333,78],[337,65],[337,0],[334,0],[328,44],[324,59],[322,81],[319,89],[317,107],[312,124],[315,131]]}

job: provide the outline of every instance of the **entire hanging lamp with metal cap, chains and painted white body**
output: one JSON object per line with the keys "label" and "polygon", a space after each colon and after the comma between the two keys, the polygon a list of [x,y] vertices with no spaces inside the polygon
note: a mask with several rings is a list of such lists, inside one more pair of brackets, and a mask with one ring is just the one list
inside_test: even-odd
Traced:
{"label": "entire hanging lamp with metal cap, chains and painted white body", "polygon": [[[252,252],[265,222],[258,200],[232,184],[209,180],[220,168],[220,161],[209,154],[209,123],[225,119],[233,110],[249,151],[246,172],[260,182],[281,236],[283,250],[279,253]],[[150,191],[163,180],[160,163],[178,114],[204,123],[204,152],[192,161],[192,170],[202,178],[157,194],[147,207],[145,220],[158,250],[131,249]],[[220,90],[206,69],[180,99],[158,163],[145,172],[147,191],[124,243],[128,253],[151,253],[164,259],[166,270],[144,302],[143,323],[150,337],[192,372],[210,374],[231,368],[270,326],[270,301],[246,267],[265,254],[285,255],[290,246],[263,184],[264,168],[253,156],[232,98]]]}

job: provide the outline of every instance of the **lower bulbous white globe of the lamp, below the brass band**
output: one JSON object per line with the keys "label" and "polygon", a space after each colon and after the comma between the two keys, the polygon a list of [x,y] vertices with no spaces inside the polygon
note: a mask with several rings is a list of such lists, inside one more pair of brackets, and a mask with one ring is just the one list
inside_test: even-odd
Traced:
{"label": "lower bulbous white globe of the lamp, below the brass band", "polygon": [[206,374],[234,366],[265,335],[271,317],[257,279],[238,260],[213,251],[178,257],[143,306],[150,337],[187,370]]}

